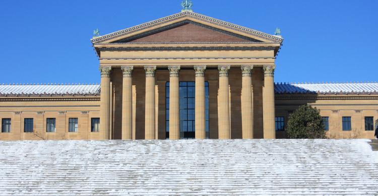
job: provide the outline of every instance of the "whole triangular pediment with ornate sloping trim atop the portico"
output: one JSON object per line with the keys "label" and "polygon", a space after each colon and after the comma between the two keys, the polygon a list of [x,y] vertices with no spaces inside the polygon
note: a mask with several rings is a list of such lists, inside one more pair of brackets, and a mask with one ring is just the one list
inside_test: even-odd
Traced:
{"label": "whole triangular pediment with ornate sloping trim atop the portico", "polygon": [[182,12],[93,38],[113,43],[281,43],[283,39],[193,12]]}

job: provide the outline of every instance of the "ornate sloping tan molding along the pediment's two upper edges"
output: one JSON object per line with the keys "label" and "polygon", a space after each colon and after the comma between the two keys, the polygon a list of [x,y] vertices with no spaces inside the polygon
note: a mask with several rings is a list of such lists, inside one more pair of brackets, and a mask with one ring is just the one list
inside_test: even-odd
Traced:
{"label": "ornate sloping tan molding along the pediment's two upper edges", "polygon": [[251,39],[257,39],[262,42],[273,42],[273,43],[281,44],[283,41],[283,39],[278,36],[269,35],[260,31],[234,25],[231,23],[227,23],[225,21],[217,20],[217,19],[207,17],[201,14],[193,13],[193,12],[178,13],[175,15],[171,15],[165,18],[155,20],[155,21],[144,23],[142,25],[138,25],[138,26],[131,27],[128,29],[110,33],[110,34],[107,34],[98,38],[94,38],[91,41],[93,44],[106,44],[106,43],[114,42],[116,40],[122,40],[128,37],[134,36],[138,32],[141,32],[141,33],[143,31],[148,32],[149,31],[148,29],[151,29],[151,30],[158,29],[164,26],[164,24],[172,23],[174,21],[179,22],[180,20],[200,22],[204,25],[219,27],[220,29],[223,29],[223,30],[227,29],[227,30],[230,30],[230,32],[236,32],[240,36],[248,37]]}

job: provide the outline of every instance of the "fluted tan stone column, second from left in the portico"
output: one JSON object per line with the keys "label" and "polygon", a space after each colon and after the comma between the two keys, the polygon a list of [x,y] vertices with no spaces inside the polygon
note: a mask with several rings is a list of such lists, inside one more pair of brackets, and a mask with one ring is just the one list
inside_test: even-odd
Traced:
{"label": "fluted tan stone column, second from left in the portico", "polygon": [[133,66],[122,66],[122,140],[133,139]]}

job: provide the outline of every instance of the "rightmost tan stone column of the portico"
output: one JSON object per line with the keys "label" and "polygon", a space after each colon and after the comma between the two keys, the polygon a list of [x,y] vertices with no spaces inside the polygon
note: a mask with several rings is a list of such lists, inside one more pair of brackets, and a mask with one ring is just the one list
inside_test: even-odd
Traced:
{"label": "rightmost tan stone column of the portico", "polygon": [[274,105],[274,69],[273,65],[264,65],[264,92],[263,92],[263,115],[264,115],[264,139],[275,139],[275,105]]}

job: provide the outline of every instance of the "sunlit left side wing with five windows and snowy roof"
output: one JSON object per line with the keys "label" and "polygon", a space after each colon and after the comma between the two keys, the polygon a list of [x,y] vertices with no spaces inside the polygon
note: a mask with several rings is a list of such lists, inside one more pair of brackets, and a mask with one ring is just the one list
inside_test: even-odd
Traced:
{"label": "sunlit left side wing with five windows and snowy roof", "polygon": [[100,139],[99,85],[0,85],[0,140]]}

